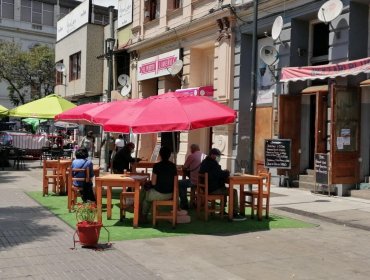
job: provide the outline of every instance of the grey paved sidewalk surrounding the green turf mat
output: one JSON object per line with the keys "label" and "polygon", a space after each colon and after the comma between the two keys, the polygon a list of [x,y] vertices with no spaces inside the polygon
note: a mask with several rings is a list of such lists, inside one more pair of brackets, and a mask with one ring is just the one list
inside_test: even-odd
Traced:
{"label": "grey paved sidewalk surrounding the green turf mat", "polygon": [[27,166],[0,171],[0,279],[369,279],[368,201],[273,188],[273,212],[317,226],[71,250],[73,229],[24,193],[41,190],[41,168]]}

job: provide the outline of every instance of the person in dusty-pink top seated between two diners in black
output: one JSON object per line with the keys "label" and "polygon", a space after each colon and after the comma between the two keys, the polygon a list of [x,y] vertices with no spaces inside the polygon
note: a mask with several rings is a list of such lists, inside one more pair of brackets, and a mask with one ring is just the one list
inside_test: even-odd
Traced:
{"label": "person in dusty-pink top seated between two diners in black", "polygon": [[199,167],[205,157],[197,144],[191,144],[190,152],[191,154],[186,158],[183,165],[184,175],[186,174],[189,179],[179,181],[180,208],[184,210],[189,209],[187,190],[188,188],[196,188]]}

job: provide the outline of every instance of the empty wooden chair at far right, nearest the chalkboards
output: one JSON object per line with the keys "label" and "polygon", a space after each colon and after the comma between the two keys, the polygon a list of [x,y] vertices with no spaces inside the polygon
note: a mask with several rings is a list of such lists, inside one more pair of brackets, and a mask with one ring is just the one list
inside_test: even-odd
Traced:
{"label": "empty wooden chair at far right, nearest the chalkboards", "polygon": [[[269,209],[270,209],[270,187],[271,187],[271,173],[260,172],[259,176],[263,177],[263,194],[262,194],[262,209],[265,209],[266,218],[269,217]],[[246,199],[249,197],[249,200]],[[258,198],[258,190],[252,189],[252,191],[244,191],[244,189],[240,190],[240,205],[241,209],[245,206],[251,208],[251,217],[254,217],[254,210],[257,210],[257,198]]]}

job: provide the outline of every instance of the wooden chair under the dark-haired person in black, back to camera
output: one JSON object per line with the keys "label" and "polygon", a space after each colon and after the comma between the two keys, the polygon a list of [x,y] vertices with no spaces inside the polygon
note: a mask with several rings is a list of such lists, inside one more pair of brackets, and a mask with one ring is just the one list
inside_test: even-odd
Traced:
{"label": "wooden chair under the dark-haired person in black, back to camera", "polygon": [[[157,224],[157,220],[169,220],[172,221],[172,228],[176,227],[177,223],[177,210],[179,202],[179,178],[176,175],[173,179],[173,195],[170,200],[155,200],[153,201],[153,226]],[[171,212],[159,212],[158,207],[170,206]]]}

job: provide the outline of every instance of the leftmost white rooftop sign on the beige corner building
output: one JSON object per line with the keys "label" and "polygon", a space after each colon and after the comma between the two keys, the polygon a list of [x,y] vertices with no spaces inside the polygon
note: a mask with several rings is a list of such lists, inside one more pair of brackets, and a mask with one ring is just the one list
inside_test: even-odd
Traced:
{"label": "leftmost white rooftop sign on the beige corner building", "polygon": [[89,22],[89,0],[85,0],[57,23],[57,41]]}

